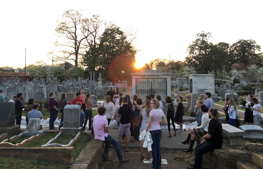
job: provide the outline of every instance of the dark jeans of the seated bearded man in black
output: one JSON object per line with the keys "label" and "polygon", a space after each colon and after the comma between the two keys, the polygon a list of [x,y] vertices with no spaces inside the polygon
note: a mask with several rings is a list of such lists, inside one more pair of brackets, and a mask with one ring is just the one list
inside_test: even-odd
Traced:
{"label": "dark jeans of the seated bearded man in black", "polygon": [[195,147],[195,169],[201,169],[202,160],[203,160],[203,154],[208,153],[215,149],[221,149],[222,144],[212,144],[209,143],[207,140],[204,142],[204,144],[199,144]]}

